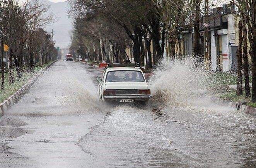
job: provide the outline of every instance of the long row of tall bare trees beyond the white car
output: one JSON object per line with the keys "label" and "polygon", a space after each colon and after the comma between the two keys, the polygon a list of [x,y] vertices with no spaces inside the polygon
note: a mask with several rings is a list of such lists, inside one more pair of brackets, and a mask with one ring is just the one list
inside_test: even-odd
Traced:
{"label": "long row of tall bare trees beyond the white car", "polygon": [[68,0],[68,4],[69,15],[74,20],[70,49],[81,55],[89,51],[93,55],[89,59],[109,61],[113,55],[114,61],[121,62],[127,58],[125,49],[130,48],[135,62],[144,65],[144,58],[148,58],[145,66],[151,68],[150,47],[153,62],[157,64],[163,58],[167,38],[171,46],[169,58],[174,60],[177,35],[183,26],[194,27],[194,55],[203,58],[199,54],[202,0]]}

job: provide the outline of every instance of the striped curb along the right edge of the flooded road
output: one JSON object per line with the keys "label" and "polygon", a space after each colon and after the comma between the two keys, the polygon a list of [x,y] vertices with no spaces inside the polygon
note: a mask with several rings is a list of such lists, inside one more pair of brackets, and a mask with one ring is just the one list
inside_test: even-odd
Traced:
{"label": "striped curb along the right edge of the flooded road", "polygon": [[207,96],[207,98],[209,98],[210,100],[212,100],[213,102],[215,102],[217,104],[236,108],[236,110],[239,110],[240,112],[244,112],[244,113],[256,116],[256,108],[242,104],[242,102],[230,102],[228,100],[223,100],[220,98],[210,97],[210,96]]}

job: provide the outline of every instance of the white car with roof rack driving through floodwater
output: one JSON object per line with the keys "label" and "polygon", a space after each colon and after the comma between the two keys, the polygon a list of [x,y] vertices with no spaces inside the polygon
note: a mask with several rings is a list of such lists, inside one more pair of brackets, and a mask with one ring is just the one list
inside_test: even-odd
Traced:
{"label": "white car with roof rack driving through floodwater", "polygon": [[108,64],[102,78],[97,80],[102,102],[147,102],[151,98],[150,88],[138,63]]}

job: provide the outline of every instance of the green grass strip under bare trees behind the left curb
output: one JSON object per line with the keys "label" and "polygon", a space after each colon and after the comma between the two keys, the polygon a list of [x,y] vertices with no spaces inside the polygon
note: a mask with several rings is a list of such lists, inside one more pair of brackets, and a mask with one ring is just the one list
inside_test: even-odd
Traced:
{"label": "green grass strip under bare trees behind the left curb", "polygon": [[[0,103],[2,103],[4,100],[9,98],[11,95],[13,95],[15,92],[17,92],[23,85],[25,85],[30,79],[33,78],[39,71],[41,71],[43,68],[48,66],[49,64],[53,63],[53,61],[50,61],[48,64],[44,64],[43,66],[36,66],[35,70],[32,72],[24,70],[22,74],[22,78],[17,80],[17,71],[14,68],[14,83],[12,85],[9,85],[9,73],[5,73],[5,83],[4,83],[4,90],[0,90]],[[2,73],[0,74],[0,80],[2,79]]]}

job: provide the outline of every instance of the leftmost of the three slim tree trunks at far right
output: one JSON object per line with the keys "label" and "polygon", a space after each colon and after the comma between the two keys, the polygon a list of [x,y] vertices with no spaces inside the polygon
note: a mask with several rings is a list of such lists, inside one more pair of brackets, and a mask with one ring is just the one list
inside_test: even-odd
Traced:
{"label": "leftmost of the three slim tree trunks at far right", "polygon": [[242,20],[239,20],[239,43],[236,51],[237,58],[237,91],[236,95],[242,95]]}

